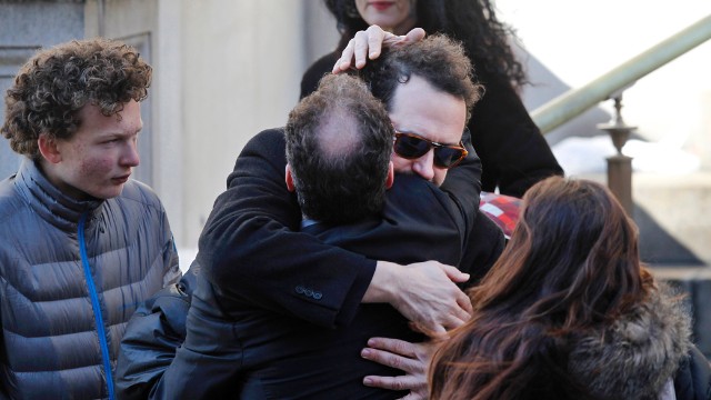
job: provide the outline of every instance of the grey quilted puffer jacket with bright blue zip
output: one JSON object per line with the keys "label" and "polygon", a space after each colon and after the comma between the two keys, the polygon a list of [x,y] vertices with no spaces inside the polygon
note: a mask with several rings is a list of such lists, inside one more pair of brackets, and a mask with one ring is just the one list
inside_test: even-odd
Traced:
{"label": "grey quilted puffer jacket with bright blue zip", "polygon": [[0,377],[10,398],[108,397],[82,216],[111,366],[137,307],[180,278],[166,211],[148,187],[129,181],[117,198],[77,201],[24,160],[0,182]]}

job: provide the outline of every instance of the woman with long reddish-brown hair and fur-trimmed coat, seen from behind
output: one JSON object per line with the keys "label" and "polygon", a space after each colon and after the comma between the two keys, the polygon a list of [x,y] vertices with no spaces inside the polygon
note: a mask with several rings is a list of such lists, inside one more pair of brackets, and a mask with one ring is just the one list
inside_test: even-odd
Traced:
{"label": "woman with long reddish-brown hair and fur-trimmed coat, seen from behind", "polygon": [[555,177],[523,199],[469,291],[473,317],[434,354],[431,399],[705,399],[711,372],[681,297],[640,263],[610,191]]}

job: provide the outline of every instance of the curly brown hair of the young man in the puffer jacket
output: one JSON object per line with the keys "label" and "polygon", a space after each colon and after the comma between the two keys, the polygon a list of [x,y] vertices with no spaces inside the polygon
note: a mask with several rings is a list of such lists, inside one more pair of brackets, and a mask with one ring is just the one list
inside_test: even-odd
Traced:
{"label": "curly brown hair of the young man in the puffer jacket", "polygon": [[132,47],[107,39],[74,40],[39,51],[6,94],[0,129],[12,150],[37,160],[40,133],[71,138],[87,104],[109,117],[148,96],[152,69]]}

